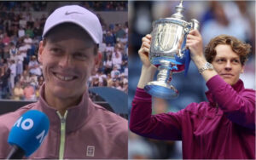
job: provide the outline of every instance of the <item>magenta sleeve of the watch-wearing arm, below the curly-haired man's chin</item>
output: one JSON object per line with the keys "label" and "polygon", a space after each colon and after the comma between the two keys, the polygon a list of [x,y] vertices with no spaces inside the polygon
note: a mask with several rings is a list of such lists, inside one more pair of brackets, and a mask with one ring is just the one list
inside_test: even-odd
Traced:
{"label": "magenta sleeve of the watch-wearing arm, below the curly-haired man's chin", "polygon": [[207,87],[230,121],[248,129],[255,129],[255,91],[253,89],[243,89],[241,93],[237,93],[218,75],[207,81]]}

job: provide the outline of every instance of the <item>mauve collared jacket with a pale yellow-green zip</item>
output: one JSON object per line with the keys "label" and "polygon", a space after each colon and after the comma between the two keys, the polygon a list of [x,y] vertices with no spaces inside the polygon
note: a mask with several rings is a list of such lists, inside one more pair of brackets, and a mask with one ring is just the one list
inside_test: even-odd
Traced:
{"label": "mauve collared jacket with a pale yellow-green zip", "polygon": [[44,85],[38,102],[0,117],[0,158],[10,151],[9,130],[22,113],[32,109],[49,117],[49,133],[28,158],[127,158],[128,123],[123,117],[94,104],[87,92],[78,106],[68,108],[61,117],[43,95]]}

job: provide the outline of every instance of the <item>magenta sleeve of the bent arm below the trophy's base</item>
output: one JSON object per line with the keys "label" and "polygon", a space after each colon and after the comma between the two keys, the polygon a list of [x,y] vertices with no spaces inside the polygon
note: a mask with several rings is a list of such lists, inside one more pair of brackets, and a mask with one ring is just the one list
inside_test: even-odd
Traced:
{"label": "magenta sleeve of the bent arm below the trophy's base", "polygon": [[152,115],[151,103],[151,95],[137,88],[132,101],[129,123],[131,131],[158,140],[181,140],[183,111]]}

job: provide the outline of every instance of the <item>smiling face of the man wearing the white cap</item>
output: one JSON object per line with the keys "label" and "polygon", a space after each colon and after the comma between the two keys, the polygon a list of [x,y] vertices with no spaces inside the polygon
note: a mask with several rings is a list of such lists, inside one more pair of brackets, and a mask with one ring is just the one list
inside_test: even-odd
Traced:
{"label": "smiling face of the man wearing the white cap", "polygon": [[95,68],[95,44],[77,27],[53,31],[40,42],[38,60],[43,64],[45,93],[60,99],[77,98]]}

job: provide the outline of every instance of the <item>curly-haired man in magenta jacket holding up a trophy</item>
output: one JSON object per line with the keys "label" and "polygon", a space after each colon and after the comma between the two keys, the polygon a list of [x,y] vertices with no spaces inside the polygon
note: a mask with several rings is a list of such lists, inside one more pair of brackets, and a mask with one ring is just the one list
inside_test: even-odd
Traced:
{"label": "curly-haired man in magenta jacket holding up a trophy", "polygon": [[138,51],[143,67],[132,102],[131,131],[158,140],[182,140],[184,159],[255,159],[255,90],[244,89],[239,79],[251,46],[220,35],[204,55],[201,34],[190,31],[186,45],[207,83],[208,101],[151,115],[151,95],[143,90],[156,69],[148,60],[150,42],[150,35],[143,37]]}

